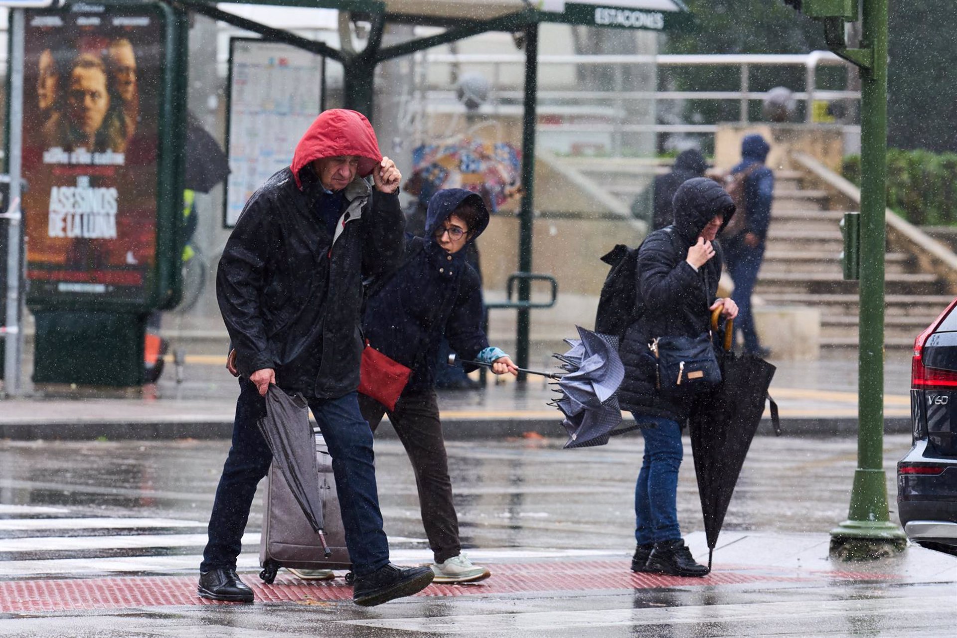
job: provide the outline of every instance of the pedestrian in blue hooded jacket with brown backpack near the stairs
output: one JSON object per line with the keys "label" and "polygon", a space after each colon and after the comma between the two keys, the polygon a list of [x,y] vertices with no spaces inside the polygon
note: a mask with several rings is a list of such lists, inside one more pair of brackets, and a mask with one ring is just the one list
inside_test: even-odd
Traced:
{"label": "pedestrian in blue hooded jacket with brown backpack near the stairs", "polygon": [[774,199],[774,173],[765,165],[770,145],[760,135],[748,135],[741,143],[741,162],[731,169],[731,174],[745,173],[745,209],[736,210],[737,231],[725,236],[721,244],[728,274],[734,280],[731,298],[738,304],[739,315],[735,328],[740,329],[745,339],[745,352],[767,357],[768,348],[761,346],[754,328],[751,313],[751,294],[761,270],[771,221],[771,201]]}

